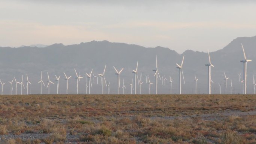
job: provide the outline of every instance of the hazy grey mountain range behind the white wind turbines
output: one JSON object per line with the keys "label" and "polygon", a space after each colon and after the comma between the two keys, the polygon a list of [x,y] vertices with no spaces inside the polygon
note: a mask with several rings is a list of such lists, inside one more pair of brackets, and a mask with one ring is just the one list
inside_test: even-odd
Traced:
{"label": "hazy grey mountain range behind the white wind turbines", "polygon": [[[247,89],[252,93],[252,76],[256,71],[256,36],[254,37],[239,37],[234,39],[231,43],[225,46],[223,49],[215,52],[210,52],[211,61],[215,66],[212,68],[212,80],[214,82],[212,91],[213,93],[219,92],[218,83],[222,84],[222,90],[224,92],[224,80],[223,71],[226,75],[232,79],[233,93],[241,93],[241,83],[239,81],[238,74],[242,72],[243,64],[240,60],[243,59],[243,51],[241,43],[246,51],[248,59],[252,59],[252,62],[248,63],[248,77],[247,77]],[[163,48],[158,46],[156,48],[145,48],[138,45],[129,45],[126,43],[112,43],[108,41],[91,41],[86,43],[80,43],[78,45],[63,45],[54,44],[42,48],[44,45],[31,45],[21,48],[0,47],[0,79],[4,82],[12,80],[13,76],[16,76],[19,81],[21,75],[25,76],[28,73],[30,81],[33,83],[31,87],[31,93],[39,93],[40,72],[43,71],[43,79],[46,83],[46,71],[49,72],[50,78],[54,81],[55,74],[61,75],[60,87],[63,93],[65,92],[65,80],[63,71],[68,75],[72,75],[70,84],[70,93],[76,92],[76,81],[74,79],[74,68],[80,71],[80,74],[85,77],[85,73],[89,73],[93,68],[93,73],[103,73],[104,65],[106,68],[106,80],[110,82],[111,93],[116,92],[116,75],[113,66],[118,69],[124,67],[124,71],[121,73],[121,80],[124,78],[127,89],[126,93],[130,93],[131,89],[128,86],[131,83],[131,79],[134,77],[132,69],[135,69],[138,61],[138,72],[142,73],[142,92],[148,92],[148,84],[146,84],[145,77],[149,75],[150,81],[153,80],[153,69],[155,69],[155,55],[158,57],[158,68],[160,75],[165,75],[168,79],[166,86],[159,82],[159,94],[168,94],[170,91],[169,75],[174,79],[173,81],[173,93],[177,93],[178,85],[178,70],[176,63],[180,64],[182,56],[185,55],[183,64],[183,72],[186,84],[183,85],[183,93],[194,93],[194,75],[198,80],[198,92],[207,93],[207,67],[208,54],[204,52],[198,52],[193,50],[186,50],[181,55],[172,48]],[[193,49],[193,48],[191,48]],[[207,47],[205,47],[207,49]],[[242,75],[241,75],[242,76]],[[162,78],[162,77],[161,77]],[[100,79],[98,79],[100,81]],[[26,81],[24,79],[24,81]],[[122,82],[121,82],[122,83]],[[9,83],[8,83],[9,84]],[[4,93],[9,94],[9,85],[4,85]],[[85,79],[82,79],[79,83],[81,88],[80,93],[85,93]],[[230,80],[228,80],[230,85]],[[20,85],[18,86],[20,90]],[[51,93],[56,90],[56,85],[51,86]],[[106,88],[107,90],[107,88]],[[153,92],[153,86],[152,86]],[[230,86],[228,90],[230,93]],[[44,88],[44,92],[47,90]],[[100,86],[94,84],[93,93],[101,93]],[[105,91],[107,92],[107,91]]]}

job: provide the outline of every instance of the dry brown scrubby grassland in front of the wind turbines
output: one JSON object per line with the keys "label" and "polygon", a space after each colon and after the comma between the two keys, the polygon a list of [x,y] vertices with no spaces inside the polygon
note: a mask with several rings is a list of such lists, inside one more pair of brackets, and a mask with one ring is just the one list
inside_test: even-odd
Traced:
{"label": "dry brown scrubby grassland in front of the wind turbines", "polygon": [[256,95],[3,95],[1,144],[256,144]]}

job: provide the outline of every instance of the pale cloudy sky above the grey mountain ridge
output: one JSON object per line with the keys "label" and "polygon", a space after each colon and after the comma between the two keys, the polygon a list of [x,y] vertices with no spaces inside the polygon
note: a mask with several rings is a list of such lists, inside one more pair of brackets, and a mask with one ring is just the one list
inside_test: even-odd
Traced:
{"label": "pale cloudy sky above the grey mountain ridge", "polygon": [[0,46],[108,40],[214,51],[256,35],[255,7],[249,0],[0,0]]}

